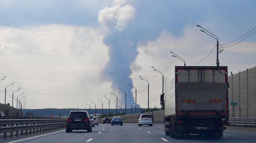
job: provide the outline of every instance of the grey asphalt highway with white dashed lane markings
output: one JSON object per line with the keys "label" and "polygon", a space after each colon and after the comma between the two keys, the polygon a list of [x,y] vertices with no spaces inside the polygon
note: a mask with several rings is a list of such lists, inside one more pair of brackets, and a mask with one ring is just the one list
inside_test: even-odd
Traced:
{"label": "grey asphalt highway with white dashed lane markings", "polygon": [[184,139],[172,139],[165,136],[163,124],[155,123],[152,127],[141,126],[137,123],[124,123],[123,126],[99,124],[93,132],[74,130],[66,133],[65,130],[54,130],[40,134],[28,135],[13,139],[1,140],[0,143],[255,143],[256,133],[224,131],[224,138],[206,139],[197,135],[185,136]]}

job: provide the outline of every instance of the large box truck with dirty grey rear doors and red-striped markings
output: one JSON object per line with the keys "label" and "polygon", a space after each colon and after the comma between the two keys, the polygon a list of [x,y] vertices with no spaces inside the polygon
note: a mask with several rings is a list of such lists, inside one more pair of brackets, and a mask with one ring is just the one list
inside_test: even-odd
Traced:
{"label": "large box truck with dirty grey rear doors and red-striped markings", "polygon": [[165,135],[219,139],[228,124],[227,67],[175,66],[165,78]]}

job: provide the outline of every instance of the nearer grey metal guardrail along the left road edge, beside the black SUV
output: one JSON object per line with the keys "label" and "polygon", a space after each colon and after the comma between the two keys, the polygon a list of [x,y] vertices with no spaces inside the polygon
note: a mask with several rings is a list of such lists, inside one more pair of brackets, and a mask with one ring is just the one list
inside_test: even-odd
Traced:
{"label": "nearer grey metal guardrail along the left road edge, beside the black SUV", "polygon": [[17,137],[19,135],[23,136],[24,130],[27,135],[28,133],[32,134],[32,132],[35,134],[35,132],[44,132],[64,127],[66,127],[66,119],[0,119],[0,133],[4,133],[4,139],[7,138],[7,132],[10,132],[9,137],[12,138],[14,131],[16,131],[15,136]]}

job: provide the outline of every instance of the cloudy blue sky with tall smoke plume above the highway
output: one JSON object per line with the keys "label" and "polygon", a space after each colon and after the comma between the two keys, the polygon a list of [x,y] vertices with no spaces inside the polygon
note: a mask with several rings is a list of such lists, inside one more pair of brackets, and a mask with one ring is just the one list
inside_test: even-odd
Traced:
{"label": "cloudy blue sky with tall smoke plume above the highway", "polygon": [[[137,107],[147,108],[141,76],[149,82],[150,108],[161,107],[162,76],[151,66],[165,76],[183,65],[170,51],[186,65],[215,66],[216,40],[196,25],[220,45],[229,43],[256,27],[255,6],[254,0],[0,0],[0,78],[7,76],[0,103],[15,82],[6,88],[12,105],[21,87],[14,107],[24,92],[26,109],[101,108],[102,102],[108,108],[108,99],[115,108],[112,92],[124,109],[126,92],[126,107],[134,108],[130,83]],[[233,43],[219,53],[228,74],[256,66],[256,33],[225,47]]]}

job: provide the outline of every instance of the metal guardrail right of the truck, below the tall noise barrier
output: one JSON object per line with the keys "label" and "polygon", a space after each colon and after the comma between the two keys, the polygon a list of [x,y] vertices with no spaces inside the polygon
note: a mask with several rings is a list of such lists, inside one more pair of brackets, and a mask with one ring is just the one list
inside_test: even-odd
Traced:
{"label": "metal guardrail right of the truck, below the tall noise barrier", "polygon": [[229,125],[256,127],[256,118],[229,118],[228,123]]}

